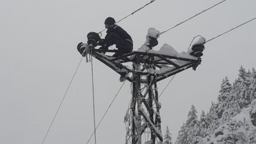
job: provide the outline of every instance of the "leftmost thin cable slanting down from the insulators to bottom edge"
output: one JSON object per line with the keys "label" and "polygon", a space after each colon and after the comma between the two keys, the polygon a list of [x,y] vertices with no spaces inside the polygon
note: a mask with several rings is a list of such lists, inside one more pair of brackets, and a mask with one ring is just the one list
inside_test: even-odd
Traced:
{"label": "leftmost thin cable slanting down from the insulators to bottom edge", "polygon": [[71,85],[71,83],[72,83],[74,77],[76,76],[76,72],[77,72],[77,70],[78,70],[78,68],[79,68],[79,66],[80,66],[82,60],[83,60],[83,57],[82,57],[81,60],[79,61],[79,64],[77,65],[77,68],[76,68],[76,70],[75,70],[75,72],[74,72],[74,75],[73,75],[73,77],[72,77],[70,83],[68,84],[68,88],[67,88],[67,90],[66,90],[66,92],[65,92],[65,94],[64,94],[64,96],[63,96],[63,98],[62,98],[62,100],[61,100],[61,102],[60,102],[60,105],[59,105],[59,107],[58,107],[58,109],[57,109],[57,111],[56,111],[56,113],[55,113],[55,115],[54,115],[54,117],[53,117],[53,119],[52,119],[52,122],[51,122],[51,124],[50,124],[50,126],[49,126],[49,128],[48,128],[48,130],[47,130],[47,132],[46,132],[46,134],[45,134],[45,136],[44,136],[44,140],[42,141],[42,144],[44,144],[44,141],[45,141],[45,139],[47,138],[47,136],[48,136],[48,134],[49,134],[49,131],[50,131],[51,127],[52,127],[52,124],[53,124],[53,122],[54,122],[54,120],[55,120],[55,118],[56,118],[58,112],[60,111],[60,107],[61,107],[61,105],[62,105],[62,103],[63,103],[63,100],[65,99],[65,97],[66,97],[66,95],[67,95],[67,92],[68,92],[68,90],[69,90],[69,88],[70,88],[70,85]]}

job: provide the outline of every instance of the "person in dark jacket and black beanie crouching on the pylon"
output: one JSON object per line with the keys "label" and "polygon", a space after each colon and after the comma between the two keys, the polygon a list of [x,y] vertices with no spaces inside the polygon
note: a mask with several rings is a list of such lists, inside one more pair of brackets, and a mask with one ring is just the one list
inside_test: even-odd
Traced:
{"label": "person in dark jacket and black beanie crouching on the pylon", "polygon": [[127,52],[132,51],[132,38],[131,36],[120,26],[115,24],[115,19],[108,17],[105,20],[105,28],[107,28],[107,35],[99,42],[100,49],[108,50],[108,47],[115,44],[118,52],[113,56],[120,56]]}

